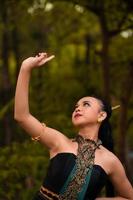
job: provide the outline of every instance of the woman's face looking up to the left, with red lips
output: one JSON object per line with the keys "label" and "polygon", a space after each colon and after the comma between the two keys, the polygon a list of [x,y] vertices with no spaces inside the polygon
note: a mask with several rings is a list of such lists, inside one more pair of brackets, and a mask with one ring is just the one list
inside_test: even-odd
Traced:
{"label": "woman's face looking up to the left, with red lips", "polygon": [[94,97],[83,97],[75,105],[72,123],[75,127],[96,124],[101,111],[101,103]]}

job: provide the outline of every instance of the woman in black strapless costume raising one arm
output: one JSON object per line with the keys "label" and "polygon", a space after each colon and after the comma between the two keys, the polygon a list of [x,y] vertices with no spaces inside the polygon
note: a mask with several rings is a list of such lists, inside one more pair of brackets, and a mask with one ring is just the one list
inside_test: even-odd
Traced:
{"label": "woman in black strapless costume raising one arm", "polygon": [[[103,130],[107,130],[111,116],[111,108],[104,101],[87,96],[77,102],[72,122],[79,133],[73,140],[40,123],[30,114],[28,88],[31,71],[53,58],[53,55],[39,53],[24,60],[16,87],[15,119],[33,140],[41,142],[50,153],[48,173],[35,199],[133,199],[133,189],[122,164],[107,150],[112,148],[106,140],[109,135],[103,137]],[[98,198],[108,178],[117,197]]]}

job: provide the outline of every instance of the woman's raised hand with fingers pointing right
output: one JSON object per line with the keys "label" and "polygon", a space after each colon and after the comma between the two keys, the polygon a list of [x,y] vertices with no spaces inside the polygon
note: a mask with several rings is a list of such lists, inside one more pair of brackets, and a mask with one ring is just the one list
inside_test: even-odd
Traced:
{"label": "woman's raised hand with fingers pointing right", "polygon": [[35,57],[29,57],[22,62],[22,66],[27,69],[40,67],[46,62],[52,60],[55,56],[48,56],[47,53],[39,53]]}

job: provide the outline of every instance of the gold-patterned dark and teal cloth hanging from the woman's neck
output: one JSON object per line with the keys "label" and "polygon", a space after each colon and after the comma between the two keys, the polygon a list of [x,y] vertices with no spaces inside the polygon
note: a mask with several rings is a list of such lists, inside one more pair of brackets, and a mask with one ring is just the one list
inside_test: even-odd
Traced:
{"label": "gold-patterned dark and teal cloth hanging from the woman's neck", "polygon": [[80,135],[75,138],[75,141],[78,142],[76,164],[60,192],[60,200],[80,199],[78,196],[80,196],[79,194],[83,188],[86,187],[86,176],[90,175],[94,165],[95,150],[102,144],[100,140],[95,142],[90,139],[84,139]]}

